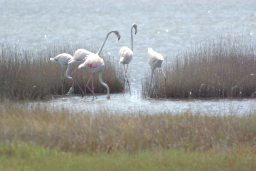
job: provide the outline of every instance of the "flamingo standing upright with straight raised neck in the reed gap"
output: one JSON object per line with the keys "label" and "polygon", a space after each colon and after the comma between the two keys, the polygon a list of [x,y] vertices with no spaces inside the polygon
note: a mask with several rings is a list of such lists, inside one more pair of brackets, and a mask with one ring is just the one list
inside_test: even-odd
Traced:
{"label": "flamingo standing upright with straight raised neck in the reed gap", "polygon": [[[132,28],[135,29],[135,34],[137,33],[137,24],[132,24]],[[134,35],[135,35],[134,34]],[[128,78],[126,76],[126,72],[127,72],[127,68],[128,68],[128,64],[131,62],[132,60],[132,55],[133,55],[133,39],[132,39],[132,30],[131,30],[131,49],[129,49],[128,47],[126,46],[123,46],[121,47],[121,49],[119,50],[119,53],[118,53],[118,57],[119,57],[119,63],[122,63],[122,64],[127,64],[126,66],[126,70],[125,70],[125,66],[124,66],[124,72],[125,72],[125,76],[124,76],[124,86],[125,86],[125,77],[126,77],[126,80],[127,80],[127,83],[128,83],[128,86],[129,86],[129,91],[130,91],[130,95],[131,95],[131,90],[130,90],[130,85],[129,85],[129,81],[128,81]]]}

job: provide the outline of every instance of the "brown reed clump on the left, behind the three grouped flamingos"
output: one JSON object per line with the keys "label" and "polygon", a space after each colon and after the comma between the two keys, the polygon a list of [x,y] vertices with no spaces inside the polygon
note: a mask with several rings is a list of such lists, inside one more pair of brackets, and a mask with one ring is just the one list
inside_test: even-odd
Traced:
{"label": "brown reed clump on the left, behind the three grouped flamingos", "polygon": [[[24,100],[24,99],[48,99],[52,95],[62,94],[61,65],[49,59],[61,53],[73,55],[75,50],[85,48],[92,52],[97,50],[85,45],[74,45],[73,43],[56,43],[54,45],[35,48],[21,48],[19,45],[0,44],[0,99]],[[123,89],[123,74],[121,67],[115,62],[114,57],[102,52],[101,57],[105,61],[103,81],[110,87],[110,93],[121,92]],[[70,69],[71,74],[77,64]],[[89,79],[91,72],[85,72],[85,81]],[[95,75],[97,76],[97,74]],[[74,74],[79,85],[84,88],[82,69]],[[66,79],[65,93],[72,86],[72,81]],[[98,79],[95,79],[95,92],[106,93]],[[91,84],[89,85],[91,86]],[[78,86],[75,86],[75,94],[81,94]],[[90,92],[88,92],[90,93]]]}

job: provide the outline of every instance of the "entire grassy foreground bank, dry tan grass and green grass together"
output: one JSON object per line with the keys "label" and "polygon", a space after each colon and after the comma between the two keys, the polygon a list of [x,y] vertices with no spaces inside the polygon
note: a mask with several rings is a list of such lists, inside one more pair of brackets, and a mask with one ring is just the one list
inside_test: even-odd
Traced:
{"label": "entire grassy foreground bank, dry tan grass and green grass together", "polygon": [[0,170],[254,170],[256,115],[0,107]]}

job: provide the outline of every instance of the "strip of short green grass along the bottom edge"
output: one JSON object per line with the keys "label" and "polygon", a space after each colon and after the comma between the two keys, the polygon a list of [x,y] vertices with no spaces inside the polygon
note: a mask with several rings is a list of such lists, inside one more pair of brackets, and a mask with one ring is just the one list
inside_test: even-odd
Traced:
{"label": "strip of short green grass along the bottom edge", "polygon": [[143,150],[134,154],[86,153],[74,154],[45,149],[22,142],[0,143],[0,170],[223,170],[246,171],[256,169],[256,148],[234,146],[225,151],[185,151],[170,148]]}

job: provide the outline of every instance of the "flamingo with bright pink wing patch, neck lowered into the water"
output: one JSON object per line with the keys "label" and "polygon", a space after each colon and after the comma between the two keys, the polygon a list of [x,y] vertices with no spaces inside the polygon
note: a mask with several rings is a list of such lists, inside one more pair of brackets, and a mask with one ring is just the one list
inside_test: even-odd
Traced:
{"label": "flamingo with bright pink wing patch, neck lowered into the water", "polygon": [[[88,80],[86,87],[92,92],[93,99],[94,99],[94,96],[96,97],[96,95],[94,94],[94,87],[93,87],[93,79],[94,79],[95,72],[99,72],[99,81],[103,86],[106,87],[107,99],[110,99],[109,87],[106,83],[104,83],[102,81],[102,72],[105,69],[105,64],[104,64],[103,59],[100,58],[98,54],[91,53],[91,54],[87,55],[85,62],[83,64],[80,64],[78,68],[85,68],[88,71],[92,72],[92,75],[91,75],[90,79]],[[90,87],[88,86],[88,83],[90,82],[91,79],[92,79],[92,89],[90,89]]]}

